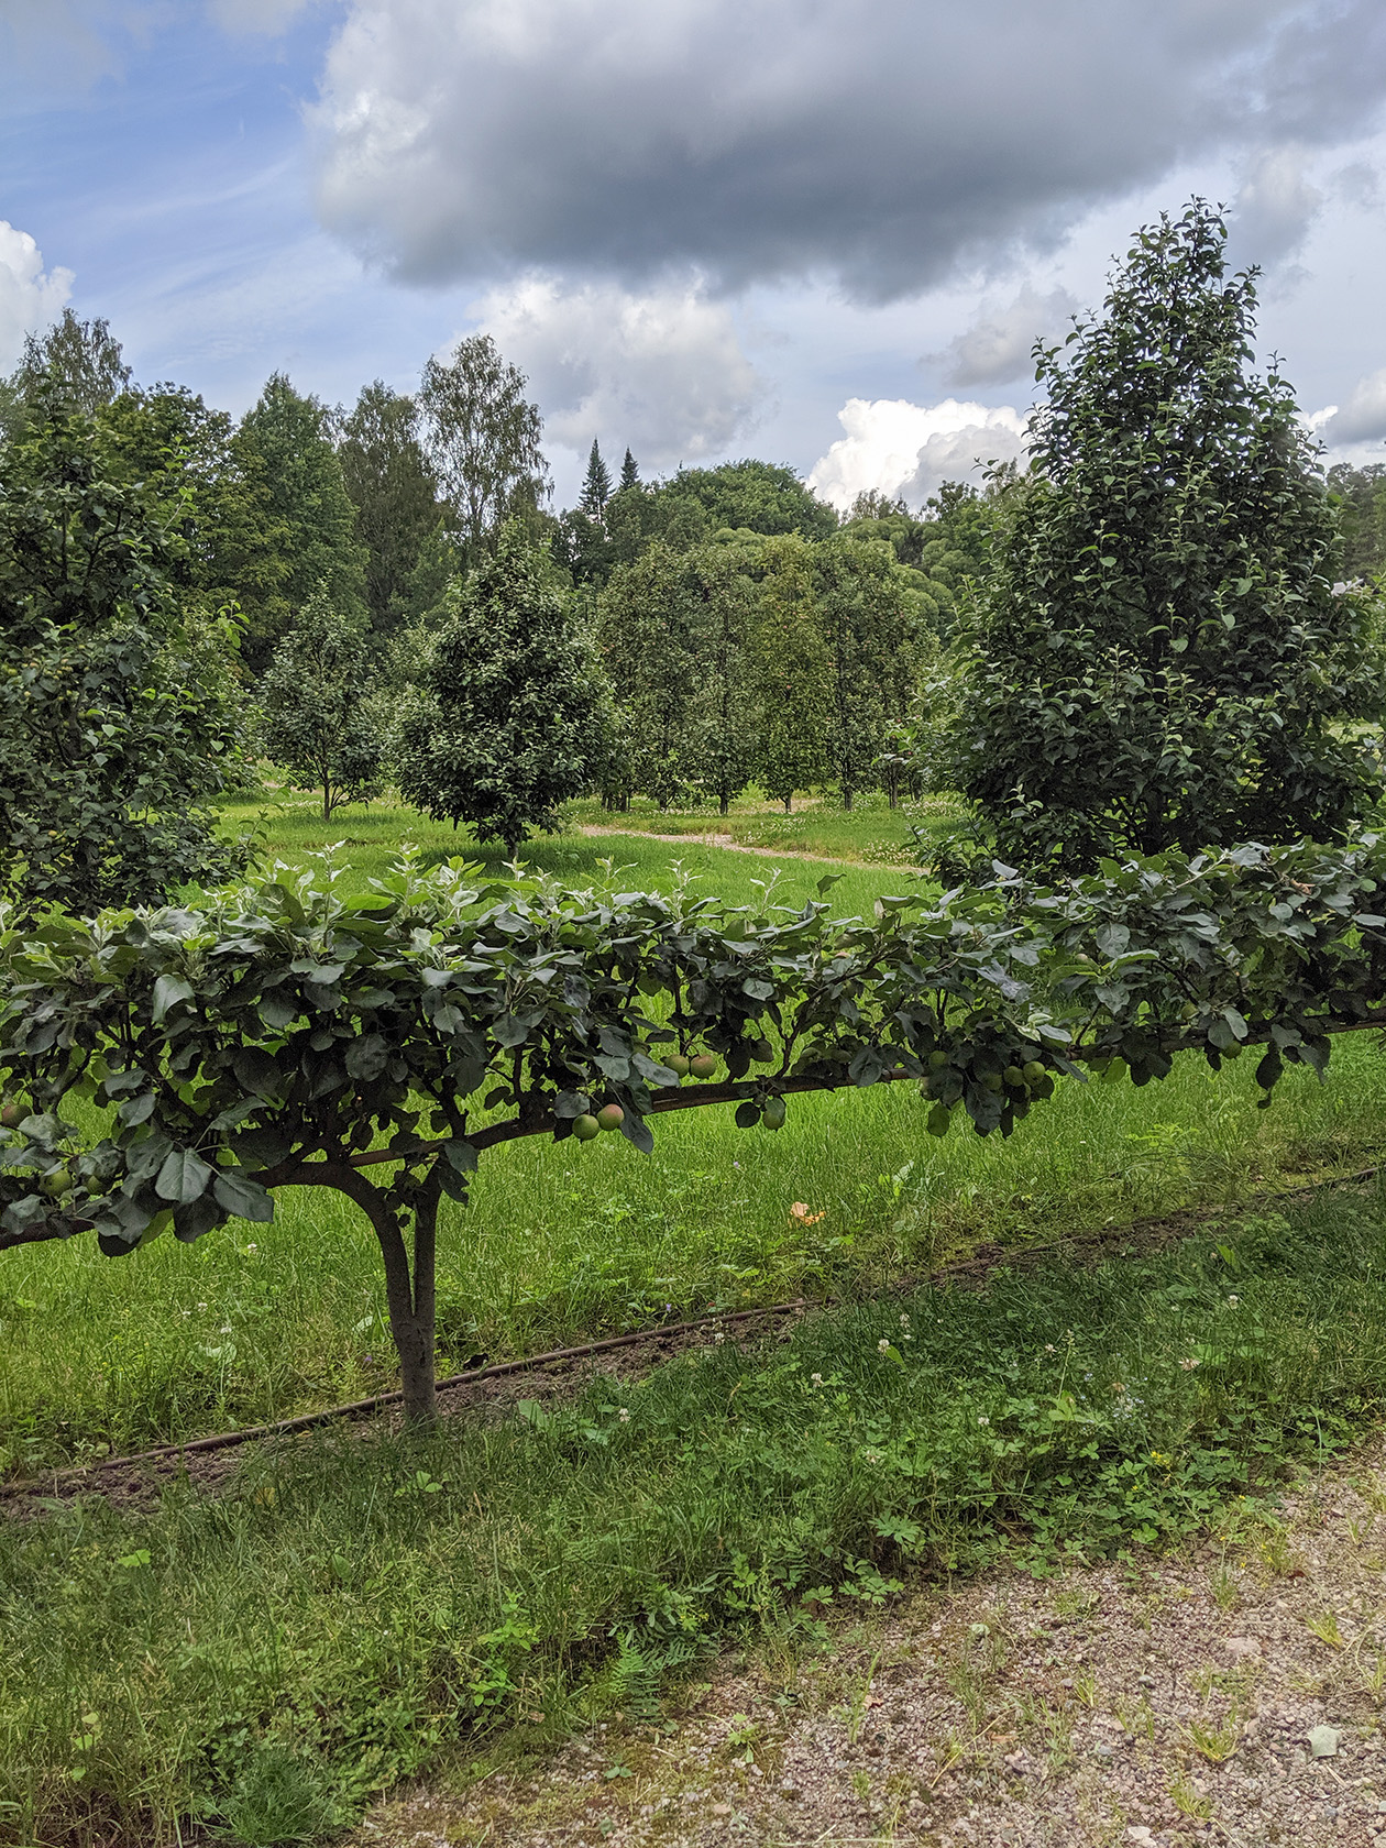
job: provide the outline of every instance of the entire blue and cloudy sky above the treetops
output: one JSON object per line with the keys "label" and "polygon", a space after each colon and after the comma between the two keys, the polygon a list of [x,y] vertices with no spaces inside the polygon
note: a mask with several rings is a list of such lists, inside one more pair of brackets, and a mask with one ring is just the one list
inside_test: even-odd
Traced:
{"label": "entire blue and cloudy sky above the treetops", "polygon": [[560,501],[593,436],[918,501],[1201,194],[1386,460],[1384,105],[1380,0],[0,0],[0,368],[72,303],[238,412],[482,327]]}

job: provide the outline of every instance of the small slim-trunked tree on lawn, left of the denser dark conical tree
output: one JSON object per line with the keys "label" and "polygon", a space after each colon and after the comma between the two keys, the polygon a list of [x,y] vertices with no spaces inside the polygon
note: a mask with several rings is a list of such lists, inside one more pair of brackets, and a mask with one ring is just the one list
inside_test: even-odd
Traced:
{"label": "small slim-trunked tree on lawn, left of the denser dark conical tree", "polygon": [[381,787],[383,736],[359,621],[318,584],[261,680],[264,750],[299,789],[322,791],[322,819]]}

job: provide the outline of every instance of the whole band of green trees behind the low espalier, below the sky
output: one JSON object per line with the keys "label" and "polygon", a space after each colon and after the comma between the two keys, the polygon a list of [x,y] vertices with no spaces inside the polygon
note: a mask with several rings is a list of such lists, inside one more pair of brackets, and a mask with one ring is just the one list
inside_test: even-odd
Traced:
{"label": "whole band of green trees behind the low espalier, below the sky", "polygon": [[846,519],[787,468],[614,480],[595,442],[554,516],[480,334],[414,395],[275,375],[233,423],[68,312],[0,381],[6,883],[218,876],[255,748],[325,815],[390,782],[510,850],[584,791],[752,782],[957,791],[950,876],[1340,837],[1380,791],[1386,473],[1325,479],[1255,305],[1210,207],[1161,218],[1037,349],[1026,469]]}

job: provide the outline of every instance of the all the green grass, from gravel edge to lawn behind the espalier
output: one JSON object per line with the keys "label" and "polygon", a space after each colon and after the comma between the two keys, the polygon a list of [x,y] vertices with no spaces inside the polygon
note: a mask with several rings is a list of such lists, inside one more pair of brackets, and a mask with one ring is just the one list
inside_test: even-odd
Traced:
{"label": "all the green grass, from gravel edge to lawn behind the espalier", "polygon": [[[268,854],[331,845],[362,880],[405,839],[477,857],[388,806],[323,824],[251,800],[227,826],[261,809]],[[577,809],[516,876],[691,876],[728,900],[774,881],[796,906],[835,870],[845,915],[909,876],[883,808],[817,815],[821,857],[578,832],[741,839],[776,819],[748,806],[730,826],[597,817]],[[1325,1083],[1292,1070],[1268,1111],[1251,1066],[1066,1083],[1007,1142],[935,1140],[909,1087],[880,1087],[791,1100],[778,1135],[675,1116],[652,1157],[617,1137],[490,1151],[469,1205],[444,1207],[447,1371],[800,1294],[832,1307],[639,1382],[617,1362],[519,1417],[248,1449],[229,1489],[176,1482],[144,1512],[0,1508],[0,1842],[325,1841],[399,1778],[538,1748],[604,1706],[654,1711],[662,1676],[728,1632],[817,1647],[824,1606],[911,1574],[1159,1545],[1229,1504],[1273,1528],[1286,1462],[1380,1416],[1386,1198],[1279,1214],[1251,1196],[1380,1153],[1386,1055],[1342,1039]],[[1186,1207],[1216,1229],[1153,1258],[924,1281],[979,1242]],[[39,1480],[395,1379],[373,1238],[309,1190],[274,1225],[124,1260],[6,1253],[0,1340],[0,1464]]]}

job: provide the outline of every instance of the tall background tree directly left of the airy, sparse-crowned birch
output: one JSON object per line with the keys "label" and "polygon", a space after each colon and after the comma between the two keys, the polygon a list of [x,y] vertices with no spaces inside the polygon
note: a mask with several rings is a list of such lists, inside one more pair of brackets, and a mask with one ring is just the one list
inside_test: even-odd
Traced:
{"label": "tall background tree directly left of the airy, sparse-crowned birch", "polygon": [[442,519],[414,399],[381,379],[364,386],[342,419],[338,455],[366,549],[366,604],[383,632],[412,614],[414,573]]}

